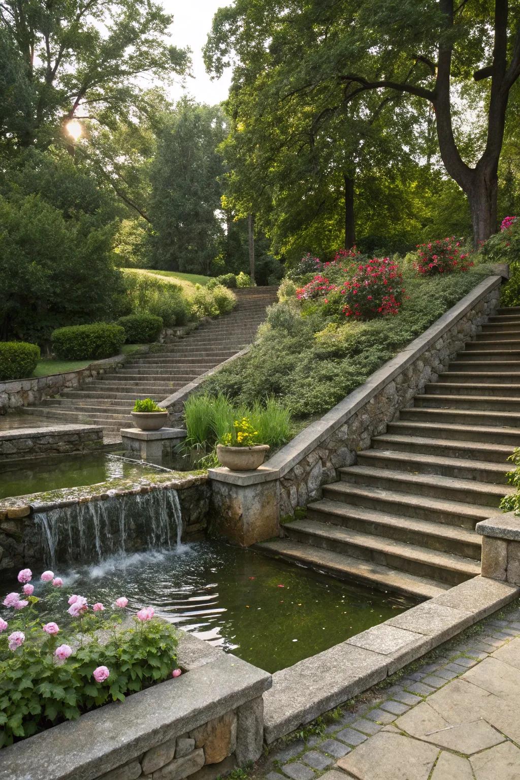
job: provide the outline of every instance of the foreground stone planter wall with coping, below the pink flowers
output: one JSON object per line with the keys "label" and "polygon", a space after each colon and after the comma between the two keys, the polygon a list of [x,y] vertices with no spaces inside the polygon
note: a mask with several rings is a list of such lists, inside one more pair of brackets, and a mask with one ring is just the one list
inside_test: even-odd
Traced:
{"label": "foreground stone planter wall with coping, below the pink flowers", "polygon": [[256,761],[271,675],[180,634],[180,677],[4,748],[0,780],[214,780]]}

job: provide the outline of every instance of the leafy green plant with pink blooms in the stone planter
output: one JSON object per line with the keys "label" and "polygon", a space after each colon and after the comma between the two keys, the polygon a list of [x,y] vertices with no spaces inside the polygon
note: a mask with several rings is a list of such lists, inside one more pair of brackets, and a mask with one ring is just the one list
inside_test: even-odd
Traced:
{"label": "leafy green plant with pink blooms in the stone planter", "polygon": [[[0,617],[0,747],[169,677],[178,677],[174,627],[145,607],[121,629],[128,599],[112,606],[66,594],[63,580],[30,569]],[[50,617],[54,619],[49,619]],[[102,640],[101,640],[102,637]]]}

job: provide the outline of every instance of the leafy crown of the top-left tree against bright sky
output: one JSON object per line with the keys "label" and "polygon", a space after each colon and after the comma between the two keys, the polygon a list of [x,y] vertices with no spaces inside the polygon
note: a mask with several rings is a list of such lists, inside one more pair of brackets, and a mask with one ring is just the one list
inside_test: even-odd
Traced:
{"label": "leafy crown of the top-left tree against bright sky", "polygon": [[0,0],[0,94],[18,101],[0,140],[47,147],[73,116],[128,114],[144,74],[186,72],[187,52],[165,41],[171,23],[152,0]]}

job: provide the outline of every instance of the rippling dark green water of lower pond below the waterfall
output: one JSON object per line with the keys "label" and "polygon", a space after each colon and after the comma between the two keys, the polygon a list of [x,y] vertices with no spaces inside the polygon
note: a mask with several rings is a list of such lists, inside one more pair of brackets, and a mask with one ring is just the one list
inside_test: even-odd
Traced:
{"label": "rippling dark green water of lower pond below the waterfall", "polygon": [[67,594],[104,605],[126,596],[135,611],[151,605],[158,615],[267,672],[410,606],[396,596],[213,541],[108,558],[59,575]]}

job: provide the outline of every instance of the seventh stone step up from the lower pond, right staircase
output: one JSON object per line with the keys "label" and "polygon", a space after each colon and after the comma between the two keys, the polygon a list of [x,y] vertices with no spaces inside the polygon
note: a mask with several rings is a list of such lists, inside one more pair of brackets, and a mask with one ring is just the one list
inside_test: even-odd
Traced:
{"label": "seventh stone step up from the lower pond, right staircase", "polygon": [[[420,430],[420,427],[419,427]],[[380,434],[372,439],[374,451],[392,449],[397,452],[410,452],[423,456],[442,456],[450,459],[469,459],[499,463],[504,471],[508,470],[508,456],[512,449],[508,445],[498,445],[482,441],[458,441],[448,438],[426,436],[408,436],[403,434]],[[371,452],[371,450],[366,450]],[[426,460],[426,457],[425,457]]]}

